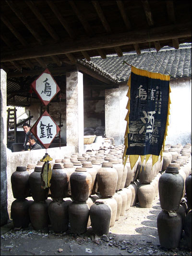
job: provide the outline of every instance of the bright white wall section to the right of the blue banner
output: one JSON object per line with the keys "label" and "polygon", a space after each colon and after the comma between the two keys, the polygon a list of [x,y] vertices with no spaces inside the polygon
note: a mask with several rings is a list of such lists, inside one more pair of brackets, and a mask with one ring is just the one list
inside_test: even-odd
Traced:
{"label": "bright white wall section to the right of the blue banner", "polygon": [[166,144],[191,143],[192,139],[192,80],[170,79],[170,115]]}

